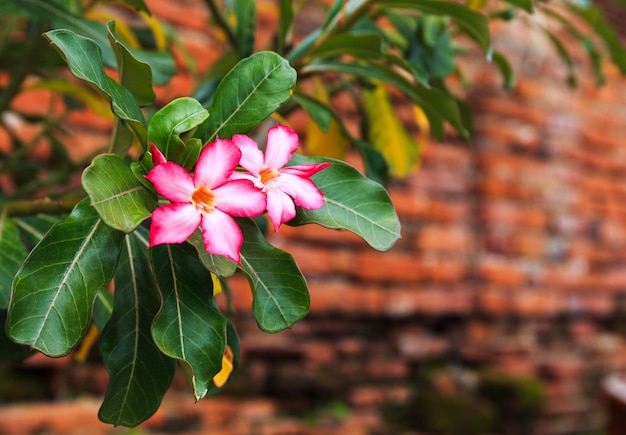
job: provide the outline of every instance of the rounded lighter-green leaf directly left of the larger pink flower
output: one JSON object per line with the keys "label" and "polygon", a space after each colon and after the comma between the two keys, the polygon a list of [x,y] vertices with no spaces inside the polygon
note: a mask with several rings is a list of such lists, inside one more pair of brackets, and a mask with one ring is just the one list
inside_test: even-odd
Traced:
{"label": "rounded lighter-green leaf directly left of the larger pink flower", "polygon": [[93,159],[82,176],[83,188],[104,223],[129,233],[150,217],[156,197],[117,154]]}

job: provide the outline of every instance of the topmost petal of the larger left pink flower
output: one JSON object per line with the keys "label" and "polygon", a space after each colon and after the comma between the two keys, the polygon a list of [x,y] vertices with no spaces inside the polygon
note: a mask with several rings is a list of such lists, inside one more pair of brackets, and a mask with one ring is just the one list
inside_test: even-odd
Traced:
{"label": "topmost petal of the larger left pink flower", "polygon": [[196,164],[194,184],[209,189],[225,183],[241,160],[241,151],[228,139],[217,139],[204,147]]}

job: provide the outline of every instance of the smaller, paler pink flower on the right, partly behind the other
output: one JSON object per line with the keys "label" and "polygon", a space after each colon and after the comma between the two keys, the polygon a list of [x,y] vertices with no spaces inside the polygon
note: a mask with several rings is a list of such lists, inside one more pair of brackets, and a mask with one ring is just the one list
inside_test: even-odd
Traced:
{"label": "smaller, paler pink flower on the right, partly behind the other", "polygon": [[293,130],[280,125],[270,128],[265,155],[248,136],[235,134],[233,142],[242,152],[241,166],[250,173],[235,172],[232,178],[252,180],[263,189],[274,230],[295,217],[294,203],[308,210],[324,205],[324,195],[310,178],[330,163],[284,167],[298,149],[298,135]]}

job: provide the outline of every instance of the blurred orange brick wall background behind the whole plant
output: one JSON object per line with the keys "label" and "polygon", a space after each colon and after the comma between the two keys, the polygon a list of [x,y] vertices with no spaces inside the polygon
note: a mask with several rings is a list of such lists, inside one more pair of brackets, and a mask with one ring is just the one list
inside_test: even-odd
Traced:
{"label": "blurred orange brick wall background behind the whole plant", "polygon": [[[626,38],[624,10],[606,1]],[[158,99],[190,95],[224,36],[201,0],[146,3],[184,47]],[[272,1],[257,7],[262,48],[278,15]],[[301,35],[325,17],[308,8]],[[152,419],[115,429],[97,420],[107,385],[97,348],[83,362],[38,355],[0,366],[0,434],[626,434],[616,399],[626,388],[626,79],[607,64],[597,87],[584,48],[552,24],[577,65],[570,87],[554,46],[518,21],[492,28],[516,86],[505,90],[484,55],[467,53],[474,138],[450,131],[428,143],[419,171],[389,185],[402,222],[391,251],[283,226],[269,241],[293,254],[312,304],[275,335],[258,330],[245,278],[234,277],[242,357],[223,393],[194,403],[179,373]],[[334,107],[358,131],[344,97]],[[409,102],[392,97],[419,135]],[[31,90],[14,104],[37,113],[46,98]],[[304,112],[288,121],[305,132]],[[73,113],[74,157],[106,144],[110,128]]]}

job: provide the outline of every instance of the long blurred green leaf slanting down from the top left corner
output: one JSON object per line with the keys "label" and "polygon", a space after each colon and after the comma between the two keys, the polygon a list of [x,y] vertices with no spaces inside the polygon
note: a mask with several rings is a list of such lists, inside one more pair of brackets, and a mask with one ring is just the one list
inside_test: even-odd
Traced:
{"label": "long blurred green leaf slanting down from the top left corner", "polygon": [[34,16],[51,20],[55,28],[63,28],[66,31],[73,31],[79,35],[90,38],[96,44],[104,64],[109,67],[115,67],[115,55],[107,40],[106,26],[97,21],[86,20],[78,15],[69,12],[66,8],[60,7],[58,4],[48,0],[8,0]]}

